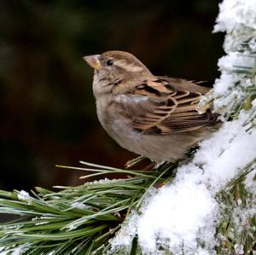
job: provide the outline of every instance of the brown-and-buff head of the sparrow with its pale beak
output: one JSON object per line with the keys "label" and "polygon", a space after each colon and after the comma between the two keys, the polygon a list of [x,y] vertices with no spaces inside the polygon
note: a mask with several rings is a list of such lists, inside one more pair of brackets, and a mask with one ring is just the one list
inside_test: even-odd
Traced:
{"label": "brown-and-buff head of the sparrow with its pale beak", "polygon": [[143,79],[152,76],[141,61],[125,51],[113,50],[102,55],[87,55],[84,61],[95,70],[93,90],[96,96],[125,93]]}

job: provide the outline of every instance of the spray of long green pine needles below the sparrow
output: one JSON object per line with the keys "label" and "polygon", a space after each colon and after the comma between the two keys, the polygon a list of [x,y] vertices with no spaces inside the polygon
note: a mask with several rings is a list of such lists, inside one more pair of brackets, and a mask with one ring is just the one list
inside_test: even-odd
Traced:
{"label": "spray of long green pine needles below the sparrow", "polygon": [[173,175],[172,164],[165,165],[165,170],[144,172],[82,163],[90,166],[79,168],[83,171],[129,177],[102,179],[78,187],[55,187],[61,191],[0,191],[0,212],[18,216],[0,226],[2,252],[102,254],[108,248],[108,239],[120,228],[131,208],[138,206],[148,187]]}

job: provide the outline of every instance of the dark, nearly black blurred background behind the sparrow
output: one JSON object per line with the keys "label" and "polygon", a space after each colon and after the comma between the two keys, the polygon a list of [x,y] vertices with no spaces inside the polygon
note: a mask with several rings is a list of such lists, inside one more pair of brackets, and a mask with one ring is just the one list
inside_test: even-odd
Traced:
{"label": "dark, nearly black blurred background behind the sparrow", "polygon": [[0,2],[0,188],[82,183],[79,160],[134,157],[96,119],[84,55],[131,52],[157,75],[212,80],[224,54],[216,0]]}

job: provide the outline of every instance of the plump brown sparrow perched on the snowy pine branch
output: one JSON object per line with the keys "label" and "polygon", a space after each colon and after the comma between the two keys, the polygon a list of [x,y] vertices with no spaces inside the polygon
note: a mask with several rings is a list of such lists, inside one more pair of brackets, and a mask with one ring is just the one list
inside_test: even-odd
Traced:
{"label": "plump brown sparrow perched on the snowy pine branch", "polygon": [[199,114],[196,103],[210,90],[182,78],[154,76],[134,55],[108,51],[84,56],[95,69],[98,119],[123,148],[156,163],[182,159],[218,126],[218,114]]}

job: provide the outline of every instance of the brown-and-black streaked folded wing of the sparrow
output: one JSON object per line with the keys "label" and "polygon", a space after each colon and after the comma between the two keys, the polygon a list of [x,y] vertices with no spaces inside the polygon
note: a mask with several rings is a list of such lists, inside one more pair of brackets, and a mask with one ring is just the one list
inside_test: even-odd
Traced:
{"label": "brown-and-black streaked folded wing of the sparrow", "polygon": [[[117,98],[127,119],[131,119],[134,130],[152,135],[167,135],[177,132],[197,130],[202,126],[213,125],[217,114],[207,111],[199,114],[196,103],[203,92],[192,82],[169,78],[152,78],[138,84],[129,95]],[[186,90],[186,88],[188,88]]]}

